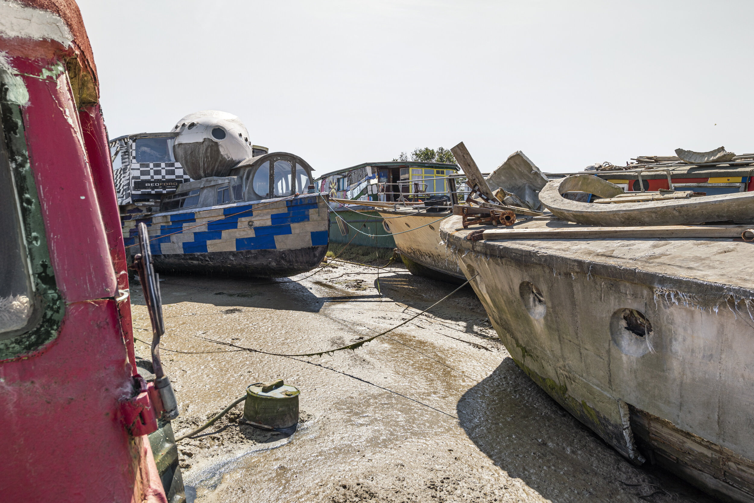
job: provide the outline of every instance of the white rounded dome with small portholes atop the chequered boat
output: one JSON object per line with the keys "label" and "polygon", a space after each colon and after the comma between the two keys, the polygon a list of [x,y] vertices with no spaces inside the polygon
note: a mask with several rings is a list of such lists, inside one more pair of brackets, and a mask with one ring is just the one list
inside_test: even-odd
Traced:
{"label": "white rounded dome with small portholes atop the chequered boat", "polygon": [[173,155],[195,180],[228,176],[234,166],[253,157],[246,126],[228,112],[202,110],[186,115],[173,131],[178,132]]}

